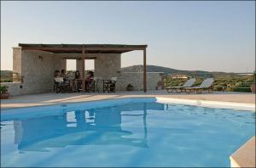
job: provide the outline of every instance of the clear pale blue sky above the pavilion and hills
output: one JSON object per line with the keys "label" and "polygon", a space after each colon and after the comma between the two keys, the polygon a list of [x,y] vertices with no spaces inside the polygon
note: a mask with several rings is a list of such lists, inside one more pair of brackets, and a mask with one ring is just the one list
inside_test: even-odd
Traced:
{"label": "clear pale blue sky above the pavilion and hills", "polygon": [[[1,70],[18,43],[148,44],[148,64],[255,70],[255,2],[2,2]],[[142,52],[122,66],[143,64]],[[91,65],[90,65],[91,66]]]}

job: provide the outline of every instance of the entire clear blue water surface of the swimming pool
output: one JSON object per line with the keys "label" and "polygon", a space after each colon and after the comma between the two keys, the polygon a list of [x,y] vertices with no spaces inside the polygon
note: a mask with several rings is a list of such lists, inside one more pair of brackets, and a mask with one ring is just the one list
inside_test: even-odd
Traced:
{"label": "entire clear blue water surface of the swimming pool", "polygon": [[255,113],[134,98],[7,109],[1,166],[230,166]]}

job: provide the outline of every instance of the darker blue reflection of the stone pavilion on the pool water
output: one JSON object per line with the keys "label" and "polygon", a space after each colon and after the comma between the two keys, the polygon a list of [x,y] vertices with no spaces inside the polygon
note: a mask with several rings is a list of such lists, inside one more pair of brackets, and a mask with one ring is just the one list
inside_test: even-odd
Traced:
{"label": "darker blue reflection of the stone pavilion on the pool water", "polygon": [[[20,152],[49,151],[49,148],[68,145],[113,144],[148,148],[148,109],[164,110],[164,104],[126,104],[15,120],[15,143]],[[141,120],[143,136],[134,136],[134,132],[122,128],[125,117]]]}

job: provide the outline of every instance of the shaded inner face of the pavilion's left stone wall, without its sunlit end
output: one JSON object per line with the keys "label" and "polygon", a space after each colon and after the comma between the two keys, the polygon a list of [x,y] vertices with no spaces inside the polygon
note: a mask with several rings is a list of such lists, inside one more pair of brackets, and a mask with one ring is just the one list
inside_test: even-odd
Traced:
{"label": "shaded inner face of the pavilion's left stone wall, without its sunlit end", "polygon": [[51,92],[55,70],[66,70],[66,59],[54,53],[22,51],[21,75],[27,93]]}

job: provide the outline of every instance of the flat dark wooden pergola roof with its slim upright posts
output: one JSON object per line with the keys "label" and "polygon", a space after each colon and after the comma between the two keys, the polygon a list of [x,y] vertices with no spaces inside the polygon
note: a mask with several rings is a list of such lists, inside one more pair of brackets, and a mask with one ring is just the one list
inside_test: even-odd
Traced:
{"label": "flat dark wooden pergola roof with its slim upright posts", "polygon": [[[143,91],[147,92],[147,53],[148,45],[123,45],[123,44],[28,44],[19,43],[22,50],[40,50],[50,53],[82,53],[82,90],[85,90],[85,59],[94,59],[86,57],[90,53],[127,53],[135,50],[143,51]],[[68,58],[67,58],[68,59]]]}

